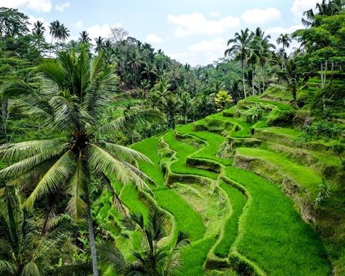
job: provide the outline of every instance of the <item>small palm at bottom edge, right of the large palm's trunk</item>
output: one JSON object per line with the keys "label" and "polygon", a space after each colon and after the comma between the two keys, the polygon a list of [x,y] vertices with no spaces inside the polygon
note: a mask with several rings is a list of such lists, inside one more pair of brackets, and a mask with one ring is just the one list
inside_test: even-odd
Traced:
{"label": "small palm at bottom edge, right of the large palm's trunk", "polygon": [[119,275],[176,275],[177,268],[181,266],[179,250],[190,244],[186,233],[179,232],[173,246],[161,246],[159,242],[166,237],[166,230],[164,215],[157,209],[150,212],[147,225],[144,224],[141,214],[131,215],[127,228],[133,231],[137,227],[143,235],[143,243],[139,250],[132,253],[135,262],[127,262],[119,248],[107,245],[98,248],[101,262]]}

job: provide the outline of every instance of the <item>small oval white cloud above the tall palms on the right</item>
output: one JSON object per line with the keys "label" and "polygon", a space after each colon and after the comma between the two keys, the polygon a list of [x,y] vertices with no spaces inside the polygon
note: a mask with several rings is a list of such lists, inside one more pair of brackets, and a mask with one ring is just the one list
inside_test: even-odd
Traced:
{"label": "small oval white cloud above the tall palms on the right", "polygon": [[244,11],[241,18],[250,24],[262,24],[270,21],[277,21],[282,17],[282,13],[277,8],[267,8],[262,10],[259,8],[253,8]]}

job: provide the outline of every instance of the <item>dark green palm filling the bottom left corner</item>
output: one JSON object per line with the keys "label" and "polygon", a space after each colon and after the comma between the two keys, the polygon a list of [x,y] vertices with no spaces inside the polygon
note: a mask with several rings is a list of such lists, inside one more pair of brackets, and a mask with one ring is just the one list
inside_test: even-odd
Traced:
{"label": "dark green palm filling the bottom left corner", "polygon": [[0,201],[0,274],[60,275],[50,268],[49,260],[67,237],[68,221],[60,219],[50,233],[40,236],[32,213],[23,210],[21,204],[21,198],[14,189],[8,189],[6,197]]}

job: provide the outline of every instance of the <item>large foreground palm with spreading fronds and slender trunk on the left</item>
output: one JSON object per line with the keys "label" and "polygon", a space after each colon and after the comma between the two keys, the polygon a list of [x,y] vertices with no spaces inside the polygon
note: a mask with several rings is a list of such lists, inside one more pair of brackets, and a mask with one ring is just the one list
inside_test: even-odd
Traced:
{"label": "large foreground palm with spreading fronds and slender trunk on the left", "polygon": [[[18,106],[23,115],[40,121],[52,130],[55,138],[6,144],[0,150],[4,160],[14,164],[0,170],[7,186],[30,190],[24,206],[48,193],[66,191],[67,212],[78,219],[86,215],[92,256],[92,269],[98,275],[95,237],[90,213],[91,177],[110,186],[110,177],[124,184],[133,183],[148,189],[144,180],[152,181],[138,168],[135,160],[150,161],[135,150],[106,141],[106,133],[121,133],[124,126],[158,118],[157,113],[140,111],[105,123],[103,114],[113,101],[117,76],[102,55],[91,59],[85,50],[60,52],[57,61],[46,61],[38,67],[39,85],[12,80],[3,95],[21,99]],[[39,90],[36,88],[39,87]],[[36,180],[38,179],[38,180]],[[31,183],[29,185],[28,183]],[[111,188],[111,186],[110,186]]]}

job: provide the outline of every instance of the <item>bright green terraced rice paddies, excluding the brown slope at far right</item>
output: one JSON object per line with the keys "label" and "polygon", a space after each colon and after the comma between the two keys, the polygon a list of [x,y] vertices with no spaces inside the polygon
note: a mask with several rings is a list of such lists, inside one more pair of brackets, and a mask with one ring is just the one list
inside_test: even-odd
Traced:
{"label": "bright green terraced rice paddies, excluding the brown slope at far right", "polygon": [[[267,103],[259,98],[254,101]],[[275,106],[286,108],[283,103]],[[198,124],[204,129],[197,131]],[[285,148],[263,139],[256,147],[233,148],[228,159],[219,157],[221,145],[229,138],[253,139],[252,127],[244,118],[218,113],[133,145],[152,160],[153,164],[139,163],[139,168],[156,185],[151,196],[139,195],[131,186],[118,187],[122,201],[131,212],[145,217],[148,204],[164,210],[167,244],[178,230],[188,233],[191,245],[181,253],[183,266],[178,275],[331,275],[321,240],[302,220],[295,201],[284,194],[284,179],[299,187],[295,199],[315,195],[320,181],[317,168],[288,154],[293,150],[288,141],[298,135],[297,130],[265,126],[274,143],[284,138]],[[319,159],[315,152],[304,151],[336,166],[331,154]],[[267,169],[257,167],[260,164]],[[270,179],[272,170],[281,177]],[[99,213],[113,212],[116,220],[119,215],[107,206]]]}

